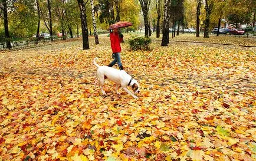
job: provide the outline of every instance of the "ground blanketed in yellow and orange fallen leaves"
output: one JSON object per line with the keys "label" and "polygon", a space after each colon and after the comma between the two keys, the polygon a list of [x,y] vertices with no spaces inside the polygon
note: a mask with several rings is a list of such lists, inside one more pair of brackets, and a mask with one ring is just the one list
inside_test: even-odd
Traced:
{"label": "ground blanketed in yellow and orange fallen leaves", "polygon": [[93,58],[111,61],[109,38],[100,43],[0,53],[0,160],[256,159],[255,48],[122,44],[135,100],[110,81],[106,97],[94,90]]}

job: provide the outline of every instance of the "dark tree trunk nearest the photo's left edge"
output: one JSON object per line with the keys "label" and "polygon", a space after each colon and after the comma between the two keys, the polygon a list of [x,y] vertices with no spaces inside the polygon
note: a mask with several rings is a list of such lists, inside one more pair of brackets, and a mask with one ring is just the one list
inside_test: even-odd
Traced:
{"label": "dark tree trunk nearest the photo's left edge", "polygon": [[9,29],[8,29],[8,13],[7,13],[7,1],[3,0],[3,7],[4,7],[4,27],[5,27],[5,41],[6,41],[6,47],[8,49],[11,49],[11,38],[9,35]]}

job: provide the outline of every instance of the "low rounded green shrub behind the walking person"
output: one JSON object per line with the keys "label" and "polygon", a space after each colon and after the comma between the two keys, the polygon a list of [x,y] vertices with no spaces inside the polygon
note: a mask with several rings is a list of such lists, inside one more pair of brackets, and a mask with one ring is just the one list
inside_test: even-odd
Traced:
{"label": "low rounded green shrub behind the walking person", "polygon": [[145,37],[132,37],[128,40],[132,50],[150,50],[150,38]]}

